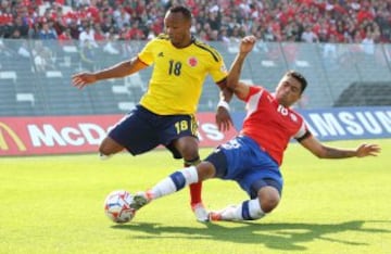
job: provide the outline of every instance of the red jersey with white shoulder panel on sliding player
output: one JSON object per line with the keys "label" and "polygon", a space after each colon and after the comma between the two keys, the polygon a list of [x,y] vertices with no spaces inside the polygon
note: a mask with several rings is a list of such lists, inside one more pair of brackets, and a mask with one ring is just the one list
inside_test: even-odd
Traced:
{"label": "red jersey with white shoulder panel on sliding player", "polygon": [[280,105],[263,87],[251,86],[244,101],[247,116],[240,134],[255,140],[262,150],[281,165],[290,139],[300,139],[308,132],[303,117]]}

